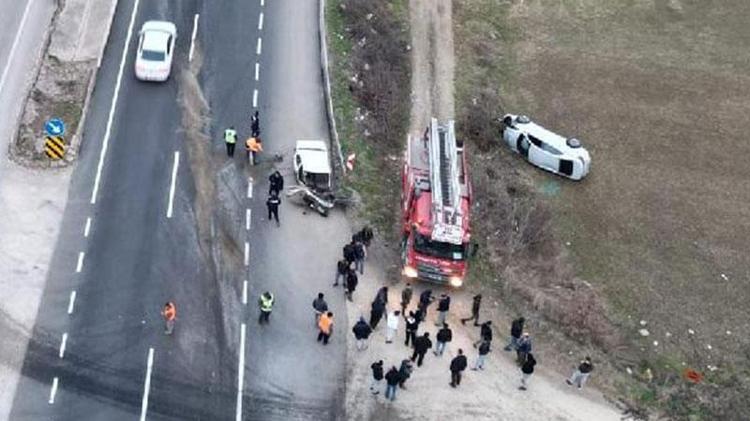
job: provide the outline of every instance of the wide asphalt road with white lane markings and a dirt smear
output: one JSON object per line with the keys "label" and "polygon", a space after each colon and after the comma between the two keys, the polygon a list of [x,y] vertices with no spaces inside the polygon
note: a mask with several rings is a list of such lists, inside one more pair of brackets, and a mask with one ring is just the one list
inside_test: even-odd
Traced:
{"label": "wide asphalt road with white lane markings and a dirt smear", "polygon": [[[241,243],[212,246],[226,248],[221,253],[229,262],[217,262],[216,253],[202,247],[196,228],[201,216],[195,209],[201,183],[187,165],[179,78],[161,85],[136,81],[134,34],[118,83],[133,6],[121,1],[115,16],[11,418],[132,420],[145,407],[149,419],[231,419],[237,415],[241,354],[242,419],[342,418],[343,335],[349,329],[337,326],[331,344],[317,344],[310,305],[318,291],[329,292],[336,318],[346,320],[340,291],[333,294],[330,286],[349,232],[346,221],[340,215],[304,215],[285,202],[282,226],[269,224],[263,193],[270,164],[249,171],[236,156],[234,163],[221,166],[222,173],[238,183],[248,176],[256,180],[252,198],[227,205],[243,216],[245,207],[252,211],[251,228],[242,234],[249,264],[245,268],[242,253],[233,253]],[[258,24],[261,13],[264,23]],[[279,167],[291,174],[295,139],[325,138],[327,133],[317,2],[237,0],[220,7],[198,0],[141,1],[134,31],[148,19],[177,25],[175,75],[187,65],[195,14],[200,14],[197,40],[205,58],[200,80],[213,119],[212,159],[222,159],[219,138],[226,125],[247,133],[257,90],[264,147],[284,154]],[[105,139],[108,149],[92,204]],[[167,218],[175,152],[183,159],[173,216]],[[249,292],[244,307],[242,278]],[[277,305],[271,324],[261,328],[255,301],[264,290],[276,294]],[[159,315],[166,300],[178,306],[171,337],[163,335]],[[244,353],[242,323],[247,326]]]}

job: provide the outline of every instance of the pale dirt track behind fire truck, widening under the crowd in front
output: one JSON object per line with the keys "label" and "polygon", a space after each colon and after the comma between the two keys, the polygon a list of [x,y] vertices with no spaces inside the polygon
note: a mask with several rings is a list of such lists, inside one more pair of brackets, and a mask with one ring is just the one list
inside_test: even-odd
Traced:
{"label": "pale dirt track behind fire truck, widening under the crowd in front", "polygon": [[[409,25],[412,28],[409,44],[412,54],[410,131],[421,132],[431,116],[443,119],[453,117],[455,64],[451,14],[450,1],[409,2]],[[372,16],[368,19],[366,13],[363,17],[366,20],[374,19]],[[370,39],[366,42],[370,42]],[[365,109],[362,113],[367,115],[368,111]],[[396,213],[390,215],[393,221],[396,216]],[[448,385],[448,366],[458,348],[465,350],[470,363],[473,364],[476,357],[472,343],[477,339],[478,331],[473,327],[463,327],[457,319],[459,314],[468,315],[470,296],[475,290],[452,292],[454,304],[448,320],[454,329],[454,340],[445,355],[434,357],[432,353],[428,353],[425,364],[415,369],[407,382],[408,390],[399,391],[394,403],[384,400],[384,391],[373,396],[369,391],[370,364],[383,359],[388,369],[391,365],[398,366],[401,360],[411,355],[411,349],[403,344],[403,320],[392,344],[384,341],[384,321],[375,330],[366,351],[354,348],[351,334],[351,326],[360,315],[369,319],[370,302],[381,286],[391,287],[389,309],[397,308],[403,284],[400,283],[397,270],[394,270],[394,262],[398,258],[398,243],[391,238],[390,233],[387,233],[385,238],[380,236],[376,240],[365,275],[360,277],[354,302],[348,310],[348,326],[339,333],[347,335],[349,355],[352,356],[347,367],[351,373],[346,397],[348,419],[447,419],[465,418],[467,415],[488,420],[506,417],[539,420],[618,419],[619,412],[606,404],[595,390],[570,393],[564,378],[559,373],[548,370],[545,363],[540,364],[532,388],[527,392],[518,390],[520,371],[511,356],[502,351],[500,342],[503,342],[504,334],[500,331],[496,331],[499,336],[496,336],[498,339],[489,358],[488,369],[483,372],[467,370],[461,387],[451,388]],[[416,286],[415,294],[418,295],[425,287],[421,284]],[[438,289],[433,287],[433,290]],[[414,310],[415,305],[416,301],[410,309]],[[488,298],[483,317],[496,321],[508,320],[505,314],[508,310],[504,307],[498,300]],[[437,329],[433,323],[434,314],[431,311],[420,333],[430,332],[434,338]],[[503,323],[498,324],[503,326]]]}

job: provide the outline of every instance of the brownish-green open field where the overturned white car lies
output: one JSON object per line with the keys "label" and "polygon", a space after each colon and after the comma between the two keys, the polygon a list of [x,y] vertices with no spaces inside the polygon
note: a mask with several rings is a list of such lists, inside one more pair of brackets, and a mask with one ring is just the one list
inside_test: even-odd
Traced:
{"label": "brownish-green open field where the overturned white car lies", "polygon": [[[478,161],[495,160],[494,178],[525,186],[550,209],[560,255],[622,335],[614,355],[653,367],[654,382],[668,388],[684,367],[717,387],[746,374],[750,2],[466,0],[454,8],[456,45],[467,46],[457,51],[466,64],[457,65],[457,112],[479,101],[496,114],[528,114],[592,154],[583,182],[554,177],[489,144],[497,132],[488,139],[493,132],[476,126],[491,126],[492,112],[464,111],[481,137]],[[507,225],[485,228],[498,227]],[[637,333],[641,320],[647,338]],[[720,414],[661,403],[677,417]]]}

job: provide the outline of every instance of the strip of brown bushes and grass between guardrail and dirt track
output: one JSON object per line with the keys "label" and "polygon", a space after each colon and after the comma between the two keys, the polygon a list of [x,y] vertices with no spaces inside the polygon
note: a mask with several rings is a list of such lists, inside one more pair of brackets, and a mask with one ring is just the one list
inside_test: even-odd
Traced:
{"label": "strip of brown bushes and grass between guardrail and dirt track", "polygon": [[331,36],[337,38],[331,43],[338,61],[334,107],[337,118],[347,117],[338,120],[344,153],[357,154],[347,181],[365,198],[361,216],[395,244],[399,157],[410,105],[409,32],[405,16],[399,15],[404,8],[400,0],[335,3],[330,18]]}

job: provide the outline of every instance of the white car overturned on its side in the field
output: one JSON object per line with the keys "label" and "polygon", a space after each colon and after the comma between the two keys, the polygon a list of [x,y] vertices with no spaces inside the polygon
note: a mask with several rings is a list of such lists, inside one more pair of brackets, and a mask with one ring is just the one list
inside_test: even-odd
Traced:
{"label": "white car overturned on its side in the field", "polygon": [[572,180],[589,173],[591,157],[578,139],[552,133],[524,115],[503,117],[503,140],[527,161],[547,171]]}

